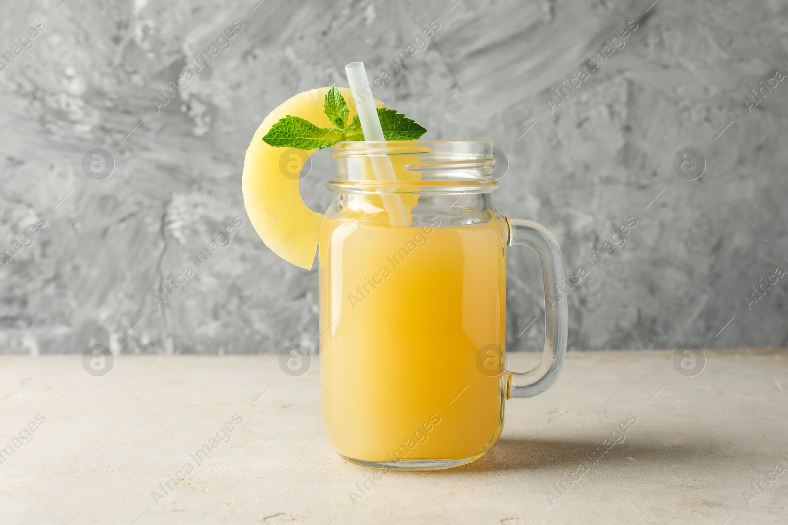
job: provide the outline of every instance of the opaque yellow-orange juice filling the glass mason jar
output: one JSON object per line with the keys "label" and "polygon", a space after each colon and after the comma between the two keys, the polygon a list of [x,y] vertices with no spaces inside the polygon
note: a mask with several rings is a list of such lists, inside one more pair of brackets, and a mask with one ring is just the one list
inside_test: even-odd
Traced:
{"label": "opaque yellow-orange juice filling the glass mason jar", "polygon": [[321,416],[337,452],[460,460],[496,442],[505,377],[479,356],[504,347],[506,231],[323,220]]}

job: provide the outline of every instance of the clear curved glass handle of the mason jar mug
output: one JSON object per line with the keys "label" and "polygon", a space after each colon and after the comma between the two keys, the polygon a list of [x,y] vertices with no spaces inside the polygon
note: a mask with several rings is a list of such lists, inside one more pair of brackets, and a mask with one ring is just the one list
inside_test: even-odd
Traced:
{"label": "clear curved glass handle of the mason jar mug", "polygon": [[563,261],[556,238],[530,220],[508,219],[509,246],[527,246],[541,259],[545,282],[545,350],[541,362],[529,372],[510,372],[508,397],[532,397],[556,383],[567,354],[569,308],[563,289]]}

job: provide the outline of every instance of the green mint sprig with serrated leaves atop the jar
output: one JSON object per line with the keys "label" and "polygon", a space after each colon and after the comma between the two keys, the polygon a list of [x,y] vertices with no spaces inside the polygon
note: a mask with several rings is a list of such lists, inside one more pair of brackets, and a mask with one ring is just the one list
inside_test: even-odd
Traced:
{"label": "green mint sprig with serrated leaves atop the jar", "polygon": [[[318,128],[300,116],[288,115],[273,124],[262,140],[270,146],[299,150],[319,150],[344,140],[364,140],[359,116],[354,115],[348,122],[348,103],[336,84],[325,94],[323,112],[333,122],[333,128]],[[396,109],[377,108],[377,116],[386,140],[415,140],[427,132]]]}

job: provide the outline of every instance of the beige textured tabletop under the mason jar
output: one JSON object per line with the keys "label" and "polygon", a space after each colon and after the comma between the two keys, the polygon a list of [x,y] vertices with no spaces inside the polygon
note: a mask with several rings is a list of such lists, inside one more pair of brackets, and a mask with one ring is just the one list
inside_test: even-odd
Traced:
{"label": "beige textured tabletop under the mason jar", "polygon": [[570,353],[481,460],[377,481],[325,441],[317,360],[2,357],[0,523],[788,523],[788,353],[705,355]]}

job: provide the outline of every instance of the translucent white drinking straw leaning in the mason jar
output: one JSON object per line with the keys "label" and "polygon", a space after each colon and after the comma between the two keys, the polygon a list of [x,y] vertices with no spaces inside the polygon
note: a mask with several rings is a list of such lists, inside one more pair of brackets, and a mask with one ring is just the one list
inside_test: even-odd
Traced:
{"label": "translucent white drinking straw leaning in the mason jar", "polygon": [[[348,75],[350,91],[355,102],[355,111],[359,113],[361,130],[364,132],[364,140],[385,140],[381,120],[377,116],[375,99],[372,96],[370,80],[366,76],[366,69],[363,62],[351,62],[345,66],[345,73]],[[374,177],[377,180],[395,181],[396,174],[394,166],[388,155],[383,157],[370,157]],[[392,188],[393,189],[393,188]],[[408,226],[407,216],[402,198],[394,194],[381,194],[383,207],[388,213],[388,221],[392,226]]]}

